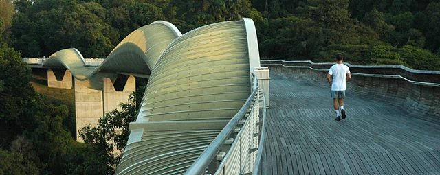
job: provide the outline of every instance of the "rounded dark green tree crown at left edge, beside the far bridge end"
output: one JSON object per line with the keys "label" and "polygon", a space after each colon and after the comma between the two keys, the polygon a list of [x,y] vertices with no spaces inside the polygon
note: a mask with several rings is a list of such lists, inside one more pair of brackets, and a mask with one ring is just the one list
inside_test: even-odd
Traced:
{"label": "rounded dark green tree crown at left edge, beside the far bridge end", "polygon": [[26,116],[23,107],[30,106],[35,96],[29,81],[30,69],[20,54],[0,43],[0,127],[5,128],[1,133],[3,146],[14,138],[8,132],[19,135],[25,129],[21,126],[21,120]]}

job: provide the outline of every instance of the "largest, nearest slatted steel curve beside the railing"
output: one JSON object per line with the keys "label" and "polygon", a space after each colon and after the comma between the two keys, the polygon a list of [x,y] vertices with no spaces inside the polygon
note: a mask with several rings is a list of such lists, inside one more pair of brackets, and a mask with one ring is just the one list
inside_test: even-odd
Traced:
{"label": "largest, nearest slatted steel curve beside the railing", "polygon": [[185,172],[239,111],[250,95],[250,69],[259,67],[259,58],[250,57],[245,23],[206,25],[168,45],[152,70],[116,174]]}

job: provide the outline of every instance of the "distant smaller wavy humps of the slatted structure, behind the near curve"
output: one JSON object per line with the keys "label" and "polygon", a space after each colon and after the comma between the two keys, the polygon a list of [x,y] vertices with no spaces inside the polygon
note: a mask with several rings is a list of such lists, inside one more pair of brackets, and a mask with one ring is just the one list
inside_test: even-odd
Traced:
{"label": "distant smaller wavy humps of the slatted structure, behind the near curve", "polygon": [[179,36],[173,24],[155,21],[126,36],[99,67],[85,66],[80,51],[74,48],[52,54],[43,67],[69,69],[77,80],[87,81],[89,88],[102,90],[102,79],[114,81],[118,73],[149,75],[162,52]]}

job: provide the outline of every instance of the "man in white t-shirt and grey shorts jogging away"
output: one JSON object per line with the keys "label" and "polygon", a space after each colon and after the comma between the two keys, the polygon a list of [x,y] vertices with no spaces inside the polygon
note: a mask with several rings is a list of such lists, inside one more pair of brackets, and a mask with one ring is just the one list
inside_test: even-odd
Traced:
{"label": "man in white t-shirt and grey shorts jogging away", "polygon": [[[329,69],[327,81],[331,86],[331,98],[333,98],[333,107],[335,108],[336,120],[345,119],[344,98],[346,90],[346,82],[351,79],[351,73],[347,65],[342,64],[344,57],[342,54],[336,54],[336,65]],[[339,110],[340,106],[340,110]]]}

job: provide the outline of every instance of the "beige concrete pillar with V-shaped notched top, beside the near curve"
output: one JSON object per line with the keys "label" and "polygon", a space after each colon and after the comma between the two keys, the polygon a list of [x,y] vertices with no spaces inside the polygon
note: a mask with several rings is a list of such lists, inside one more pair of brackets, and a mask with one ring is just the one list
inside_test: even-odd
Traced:
{"label": "beige concrete pillar with V-shaped notched top, beside the near curve", "polygon": [[104,113],[111,110],[120,110],[119,104],[127,102],[131,93],[136,90],[136,78],[129,76],[126,80],[124,90],[116,91],[110,78],[104,78]]}

